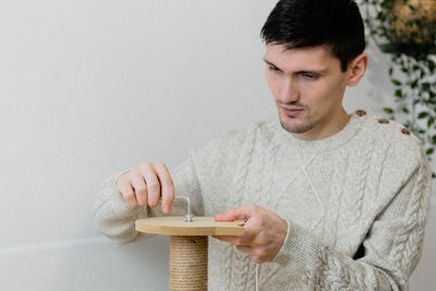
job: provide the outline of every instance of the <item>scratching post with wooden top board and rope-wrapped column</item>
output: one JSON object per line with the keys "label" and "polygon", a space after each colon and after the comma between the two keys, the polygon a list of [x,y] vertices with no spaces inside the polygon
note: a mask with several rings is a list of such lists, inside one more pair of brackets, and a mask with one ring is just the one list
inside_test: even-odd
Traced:
{"label": "scratching post with wooden top board and rope-wrapped column", "polygon": [[171,235],[170,291],[207,290],[207,235],[243,235],[243,220],[215,221],[213,217],[143,218],[140,232]]}

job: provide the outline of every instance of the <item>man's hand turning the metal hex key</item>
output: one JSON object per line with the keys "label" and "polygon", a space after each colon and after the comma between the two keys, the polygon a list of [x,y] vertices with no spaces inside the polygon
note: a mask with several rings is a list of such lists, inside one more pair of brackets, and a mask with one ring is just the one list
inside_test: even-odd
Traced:
{"label": "man's hand turning the metal hex key", "polygon": [[162,211],[171,210],[174,184],[167,166],[161,162],[143,162],[123,173],[117,181],[117,191],[131,206],[156,207],[162,199]]}

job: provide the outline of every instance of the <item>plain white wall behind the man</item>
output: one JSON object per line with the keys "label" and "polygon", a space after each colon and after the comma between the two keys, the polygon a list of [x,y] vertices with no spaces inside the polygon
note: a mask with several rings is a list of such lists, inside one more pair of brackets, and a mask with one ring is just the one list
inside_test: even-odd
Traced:
{"label": "plain white wall behind the man", "polygon": [[[168,238],[116,245],[92,206],[102,180],[179,165],[275,107],[261,27],[276,1],[1,0],[0,290],[168,289]],[[388,58],[346,107],[380,112]],[[412,290],[429,290],[429,219]]]}

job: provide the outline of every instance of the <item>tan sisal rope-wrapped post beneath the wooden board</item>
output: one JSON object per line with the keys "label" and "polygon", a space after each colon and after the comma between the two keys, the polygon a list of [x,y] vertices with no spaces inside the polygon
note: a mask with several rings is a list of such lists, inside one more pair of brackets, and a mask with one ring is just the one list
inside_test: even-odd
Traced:
{"label": "tan sisal rope-wrapped post beneath the wooden board", "polygon": [[171,235],[170,291],[207,290],[208,237]]}

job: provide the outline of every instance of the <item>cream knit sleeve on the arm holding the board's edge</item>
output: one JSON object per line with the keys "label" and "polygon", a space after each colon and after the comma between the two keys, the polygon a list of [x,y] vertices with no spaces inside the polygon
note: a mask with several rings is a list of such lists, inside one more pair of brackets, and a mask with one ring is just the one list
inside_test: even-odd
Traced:
{"label": "cream knit sleeve on the arm holding the board's edge", "polygon": [[425,155],[373,221],[363,257],[353,259],[288,221],[288,234],[272,263],[314,290],[408,290],[420,260],[429,207],[431,170]]}

